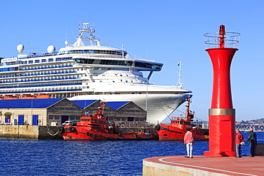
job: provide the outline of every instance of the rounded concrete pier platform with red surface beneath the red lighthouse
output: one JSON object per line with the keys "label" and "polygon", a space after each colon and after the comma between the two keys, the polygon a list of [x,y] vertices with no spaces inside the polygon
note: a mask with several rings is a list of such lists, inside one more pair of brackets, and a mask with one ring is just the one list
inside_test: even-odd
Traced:
{"label": "rounded concrete pier platform with red surface beneath the red lighthouse", "polygon": [[264,156],[149,157],[143,160],[143,176],[172,175],[264,175]]}

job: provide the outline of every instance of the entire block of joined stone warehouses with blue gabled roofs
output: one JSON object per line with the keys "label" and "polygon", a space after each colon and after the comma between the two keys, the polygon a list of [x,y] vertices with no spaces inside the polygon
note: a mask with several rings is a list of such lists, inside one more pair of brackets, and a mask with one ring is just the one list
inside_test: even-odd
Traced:
{"label": "entire block of joined stone warehouses with blue gabled roofs", "polygon": [[[101,100],[68,100],[37,98],[0,100],[1,125],[61,125],[66,120],[79,120],[84,112],[95,113]],[[106,102],[103,113],[109,121],[123,127],[146,125],[146,110],[132,101]]]}

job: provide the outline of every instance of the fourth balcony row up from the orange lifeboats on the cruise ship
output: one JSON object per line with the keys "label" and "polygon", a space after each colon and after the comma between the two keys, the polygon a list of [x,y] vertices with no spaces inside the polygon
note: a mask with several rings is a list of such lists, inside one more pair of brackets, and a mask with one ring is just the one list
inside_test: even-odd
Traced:
{"label": "fourth balcony row up from the orange lifeboats on the cruise ship", "polygon": [[39,72],[27,72],[27,73],[17,73],[11,75],[0,75],[0,78],[9,78],[9,77],[19,77],[19,76],[39,76],[39,75],[51,75],[51,74],[62,74],[62,73],[77,73],[76,69],[71,70],[56,70],[56,71],[39,71]]}

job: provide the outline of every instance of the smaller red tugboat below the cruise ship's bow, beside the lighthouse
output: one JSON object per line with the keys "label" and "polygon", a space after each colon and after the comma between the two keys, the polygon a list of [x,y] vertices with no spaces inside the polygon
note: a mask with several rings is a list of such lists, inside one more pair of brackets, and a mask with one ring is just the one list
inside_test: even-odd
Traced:
{"label": "smaller red tugboat below the cruise ship's bow, beside the lighthouse", "polygon": [[194,126],[191,124],[193,121],[194,113],[190,110],[191,100],[188,98],[186,105],[186,117],[172,117],[170,125],[158,124],[155,129],[158,133],[159,140],[183,140],[186,129],[191,129],[193,138],[195,140],[209,140],[209,136],[203,134],[203,130],[199,125]]}

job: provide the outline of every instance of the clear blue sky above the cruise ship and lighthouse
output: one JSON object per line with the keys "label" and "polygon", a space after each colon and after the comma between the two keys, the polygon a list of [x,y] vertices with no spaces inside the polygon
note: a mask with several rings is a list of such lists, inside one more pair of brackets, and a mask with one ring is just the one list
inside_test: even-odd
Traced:
{"label": "clear blue sky above the cruise ship and lighthouse", "polygon": [[96,24],[102,45],[121,48],[124,43],[131,56],[164,64],[150,83],[175,85],[181,61],[182,82],[193,91],[191,109],[208,120],[213,71],[203,34],[218,32],[223,24],[241,34],[231,66],[236,120],[264,118],[263,7],[260,0],[1,0],[0,57],[17,56],[20,43],[29,52],[44,53],[50,45],[58,51],[66,38],[74,43],[78,24]]}

